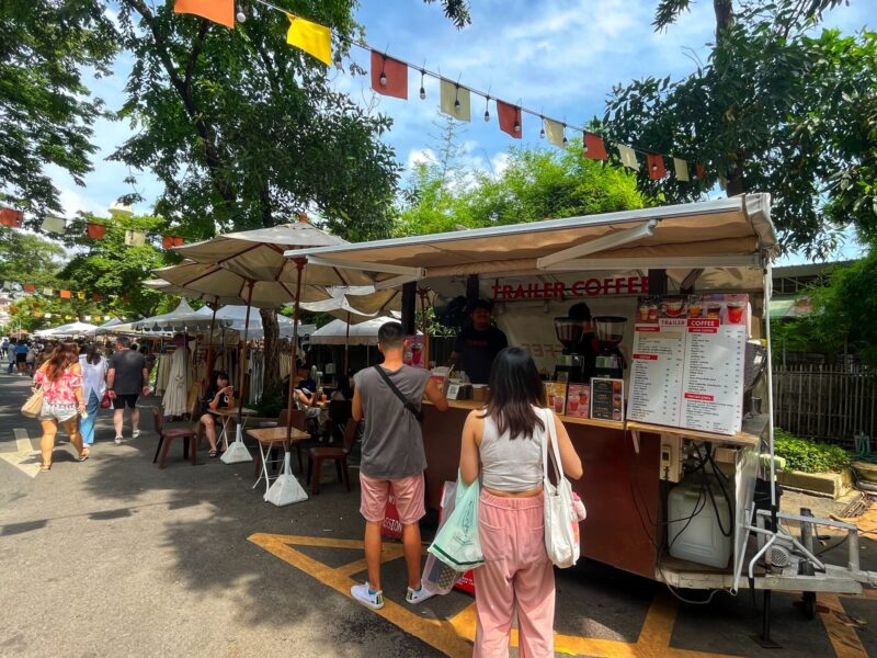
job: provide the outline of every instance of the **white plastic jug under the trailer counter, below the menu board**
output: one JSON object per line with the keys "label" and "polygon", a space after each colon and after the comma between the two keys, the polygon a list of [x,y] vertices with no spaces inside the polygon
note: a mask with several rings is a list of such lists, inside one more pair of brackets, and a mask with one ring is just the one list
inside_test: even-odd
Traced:
{"label": "white plastic jug under the trailer counter, below the menu board", "polygon": [[[702,484],[701,475],[695,475],[670,491],[667,543],[673,557],[721,569],[728,566],[731,556],[733,514],[715,477],[707,477],[707,487],[713,490],[711,499]],[[733,500],[733,480],[725,483],[725,489]],[[688,518],[695,512],[690,523]],[[726,537],[721,533],[719,519],[721,527],[731,536]]]}

